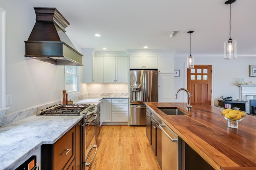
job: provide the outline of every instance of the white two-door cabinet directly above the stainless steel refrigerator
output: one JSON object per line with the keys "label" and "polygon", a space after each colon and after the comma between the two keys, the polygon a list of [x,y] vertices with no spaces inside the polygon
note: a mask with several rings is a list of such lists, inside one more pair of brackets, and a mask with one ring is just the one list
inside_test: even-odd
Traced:
{"label": "white two-door cabinet directly above the stainless steel refrigerator", "polygon": [[158,69],[158,55],[130,55],[130,69]]}

